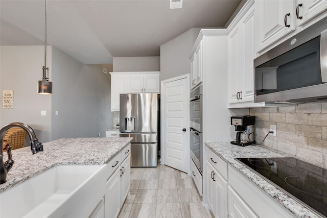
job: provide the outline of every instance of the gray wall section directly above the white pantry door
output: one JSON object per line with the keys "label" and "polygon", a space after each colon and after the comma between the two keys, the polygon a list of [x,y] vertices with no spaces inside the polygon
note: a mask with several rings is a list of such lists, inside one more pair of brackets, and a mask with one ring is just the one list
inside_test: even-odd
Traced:
{"label": "gray wall section directly above the white pantry door", "polygon": [[192,28],[160,46],[160,79],[189,74],[189,56],[201,28]]}

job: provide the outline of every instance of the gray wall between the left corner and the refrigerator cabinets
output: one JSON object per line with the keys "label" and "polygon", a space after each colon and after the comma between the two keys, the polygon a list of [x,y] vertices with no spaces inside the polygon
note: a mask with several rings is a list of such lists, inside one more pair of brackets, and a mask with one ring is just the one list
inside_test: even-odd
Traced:
{"label": "gray wall between the left corner and the refrigerator cabinets", "polygon": [[110,74],[102,65],[82,64],[55,48],[52,65],[52,139],[104,137],[112,124]]}

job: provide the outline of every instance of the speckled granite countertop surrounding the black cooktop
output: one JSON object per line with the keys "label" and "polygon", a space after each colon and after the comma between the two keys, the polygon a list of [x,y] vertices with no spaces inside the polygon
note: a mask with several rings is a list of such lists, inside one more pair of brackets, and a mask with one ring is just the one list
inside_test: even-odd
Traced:
{"label": "speckled granite countertop surrounding the black cooktop", "polygon": [[[218,154],[227,163],[238,169],[255,185],[259,186],[263,191],[267,192],[278,203],[290,210],[298,217],[320,217],[312,212],[308,207],[302,205],[297,200],[289,196],[281,188],[277,188],[268,182],[263,176],[251,171],[245,165],[241,164],[235,158],[249,158],[249,157],[292,157],[274,149],[264,146],[246,146],[240,147],[230,144],[229,142],[205,142],[206,146]],[[296,157],[297,158],[297,157]],[[298,158],[299,159],[299,158]]]}

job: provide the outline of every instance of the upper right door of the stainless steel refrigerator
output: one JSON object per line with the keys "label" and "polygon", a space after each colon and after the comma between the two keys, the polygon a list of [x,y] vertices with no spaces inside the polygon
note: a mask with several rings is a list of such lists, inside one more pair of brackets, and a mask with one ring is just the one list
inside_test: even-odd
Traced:
{"label": "upper right door of the stainless steel refrigerator", "polygon": [[138,94],[138,132],[157,132],[158,94]]}

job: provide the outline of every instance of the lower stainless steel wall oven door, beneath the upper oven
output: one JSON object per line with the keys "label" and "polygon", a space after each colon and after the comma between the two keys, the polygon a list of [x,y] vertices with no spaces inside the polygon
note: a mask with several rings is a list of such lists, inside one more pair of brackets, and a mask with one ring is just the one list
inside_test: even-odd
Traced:
{"label": "lower stainless steel wall oven door, beneath the upper oven", "polygon": [[191,158],[202,175],[202,133],[190,128]]}

